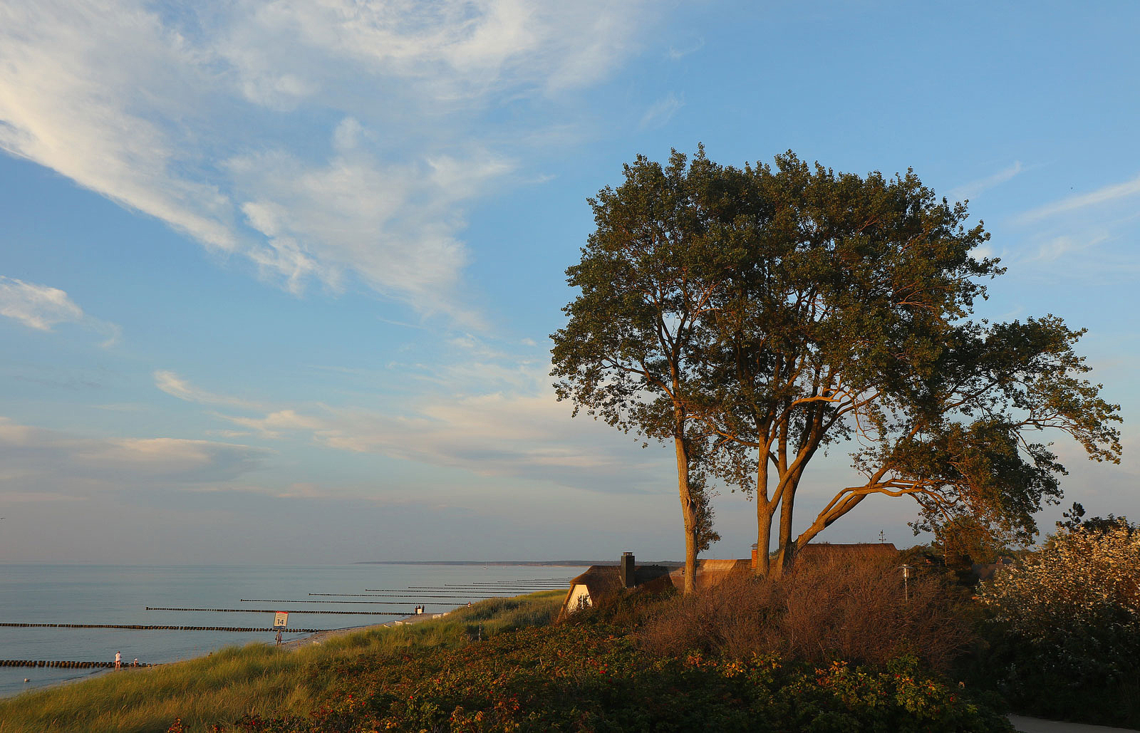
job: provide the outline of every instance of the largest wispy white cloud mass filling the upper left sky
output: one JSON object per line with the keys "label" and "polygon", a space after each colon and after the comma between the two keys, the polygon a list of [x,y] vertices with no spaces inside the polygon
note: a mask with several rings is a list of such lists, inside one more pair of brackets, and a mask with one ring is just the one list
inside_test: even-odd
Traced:
{"label": "largest wispy white cloud mass filling the upper left sky", "polygon": [[524,137],[481,127],[484,112],[602,79],[643,7],[8,3],[0,149],[242,253],[291,291],[355,274],[458,315],[463,209],[514,170],[504,147]]}

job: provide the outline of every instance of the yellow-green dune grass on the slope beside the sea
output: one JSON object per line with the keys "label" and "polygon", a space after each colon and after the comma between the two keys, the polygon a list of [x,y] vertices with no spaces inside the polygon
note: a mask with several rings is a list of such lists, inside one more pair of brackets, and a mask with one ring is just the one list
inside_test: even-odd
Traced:
{"label": "yellow-green dune grass on the slope beside the sea", "polygon": [[477,636],[545,626],[564,596],[564,591],[544,591],[490,598],[439,619],[361,630],[295,651],[263,644],[229,646],[185,662],[30,691],[0,700],[0,733],[163,733],[174,718],[197,732],[250,712],[307,715],[320,693],[336,684],[332,671],[336,661],[458,649]]}

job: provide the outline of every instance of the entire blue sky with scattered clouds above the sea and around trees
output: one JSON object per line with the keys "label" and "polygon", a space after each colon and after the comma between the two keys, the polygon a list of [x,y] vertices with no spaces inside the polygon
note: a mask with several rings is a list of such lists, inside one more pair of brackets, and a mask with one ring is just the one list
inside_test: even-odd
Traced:
{"label": "entire blue sky with scattered clouds above the sea and around trees", "polygon": [[[1140,519],[1140,6],[0,0],[0,562],[679,559],[675,464],[551,388],[644,154],[913,169],[1121,405]],[[847,486],[813,466],[806,526]],[[755,508],[723,488],[744,557]],[[1052,528],[1062,507],[1040,515]],[[877,497],[820,540],[923,540]]]}

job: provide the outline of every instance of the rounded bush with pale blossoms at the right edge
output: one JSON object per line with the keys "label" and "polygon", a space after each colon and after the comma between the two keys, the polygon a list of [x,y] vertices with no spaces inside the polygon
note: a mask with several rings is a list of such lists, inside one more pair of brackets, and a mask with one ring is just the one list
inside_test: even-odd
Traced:
{"label": "rounded bush with pale blossoms at the right edge", "polygon": [[1021,711],[1140,727],[1140,531],[1061,528],[983,584],[988,678]]}

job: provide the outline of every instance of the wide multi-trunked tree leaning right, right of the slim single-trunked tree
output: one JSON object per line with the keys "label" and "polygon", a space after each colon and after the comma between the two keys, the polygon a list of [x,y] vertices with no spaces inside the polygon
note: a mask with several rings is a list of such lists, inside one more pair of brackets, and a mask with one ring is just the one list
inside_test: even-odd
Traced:
{"label": "wide multi-trunked tree leaning right, right of the slim single-trunked tree", "polygon": [[[1024,540],[1061,496],[1044,431],[1118,461],[1118,406],[1082,377],[1083,332],[1052,316],[971,319],[1003,270],[974,256],[988,234],[963,226],[964,204],[913,172],[837,174],[791,153],[744,173],[749,252],[702,313],[698,360],[714,388],[685,408],[719,437],[720,475],[754,495],[757,573],[769,572],[777,507],[776,573],[872,495],[915,499],[917,528],[968,520]],[[862,479],[793,538],[805,470],[840,442]]]}

